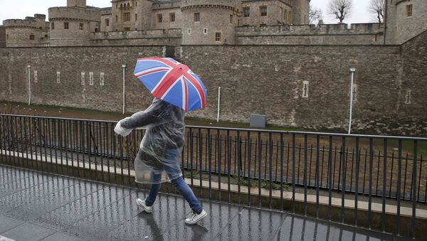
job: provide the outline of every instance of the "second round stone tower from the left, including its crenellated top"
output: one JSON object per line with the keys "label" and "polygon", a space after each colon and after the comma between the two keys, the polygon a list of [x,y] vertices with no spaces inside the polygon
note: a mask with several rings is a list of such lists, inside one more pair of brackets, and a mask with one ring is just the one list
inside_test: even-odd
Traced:
{"label": "second round stone tower from the left, including its crenellated top", "polygon": [[100,30],[101,11],[81,7],[49,9],[52,46],[90,45],[90,34]]}

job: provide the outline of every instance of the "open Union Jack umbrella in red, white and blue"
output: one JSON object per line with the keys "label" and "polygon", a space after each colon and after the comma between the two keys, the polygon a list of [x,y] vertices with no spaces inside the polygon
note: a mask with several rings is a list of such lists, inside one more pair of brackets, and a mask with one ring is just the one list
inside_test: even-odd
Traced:
{"label": "open Union Jack umbrella in red, white and blue", "polygon": [[186,112],[206,105],[207,90],[199,76],[172,58],[139,58],[134,75],[154,97]]}

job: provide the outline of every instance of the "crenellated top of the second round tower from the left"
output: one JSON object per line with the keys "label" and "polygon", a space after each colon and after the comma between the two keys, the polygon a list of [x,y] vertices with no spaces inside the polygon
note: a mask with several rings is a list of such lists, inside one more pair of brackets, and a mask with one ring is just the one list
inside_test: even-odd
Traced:
{"label": "crenellated top of the second round tower from the left", "polygon": [[78,7],[56,6],[49,8],[49,21],[69,19],[75,21],[100,21],[102,11],[99,9],[84,9]]}

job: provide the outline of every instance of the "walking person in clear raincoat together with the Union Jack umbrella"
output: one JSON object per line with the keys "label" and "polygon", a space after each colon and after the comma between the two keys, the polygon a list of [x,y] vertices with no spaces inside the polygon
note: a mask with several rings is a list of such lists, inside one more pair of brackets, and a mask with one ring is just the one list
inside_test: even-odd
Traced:
{"label": "walking person in clear raincoat together with the Union Jack umbrella", "polygon": [[184,181],[179,154],[184,146],[185,112],[206,106],[206,87],[199,76],[172,58],[138,59],[134,75],[154,100],[143,112],[120,120],[115,132],[127,136],[133,129],[147,129],[135,158],[135,181],[151,183],[151,188],[146,198],[137,199],[137,205],[152,213],[161,183],[170,181],[193,210],[185,223],[194,225],[207,213]]}

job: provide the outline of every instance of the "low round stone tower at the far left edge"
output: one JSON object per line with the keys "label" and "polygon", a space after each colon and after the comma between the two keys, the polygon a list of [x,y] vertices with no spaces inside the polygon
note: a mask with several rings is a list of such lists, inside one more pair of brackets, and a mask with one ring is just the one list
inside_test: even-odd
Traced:
{"label": "low round stone tower at the far left edge", "polygon": [[46,43],[46,15],[7,19],[3,25],[6,28],[6,47],[33,47]]}

